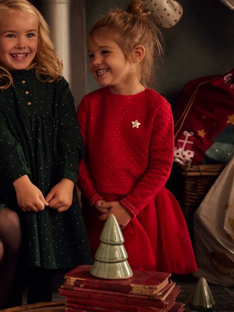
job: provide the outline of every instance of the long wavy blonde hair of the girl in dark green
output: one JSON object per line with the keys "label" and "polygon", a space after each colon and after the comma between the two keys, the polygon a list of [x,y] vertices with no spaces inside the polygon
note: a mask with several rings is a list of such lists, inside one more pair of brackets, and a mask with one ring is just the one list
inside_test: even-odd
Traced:
{"label": "long wavy blonde hair of the girl in dark green", "polygon": [[[27,0],[0,0],[0,18],[11,16],[13,13],[22,16],[35,16],[38,22],[38,44],[36,55],[29,69],[34,68],[35,74],[40,81],[55,81],[62,75],[62,60],[56,55],[55,47],[50,37],[50,28],[41,13]],[[42,78],[43,75],[44,77]],[[10,72],[0,66],[0,82],[5,85],[0,89],[7,89],[13,85],[13,78]]]}

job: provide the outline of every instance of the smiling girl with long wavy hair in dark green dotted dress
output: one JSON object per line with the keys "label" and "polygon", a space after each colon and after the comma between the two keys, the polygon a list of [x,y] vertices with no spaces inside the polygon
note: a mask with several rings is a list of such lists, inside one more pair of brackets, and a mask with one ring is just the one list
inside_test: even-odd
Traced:
{"label": "smiling girl with long wavy hair in dark green dotted dress", "polygon": [[16,212],[28,303],[49,301],[53,269],[91,256],[74,191],[82,151],[74,99],[48,25],[26,0],[0,1],[0,66],[0,235],[4,211]]}

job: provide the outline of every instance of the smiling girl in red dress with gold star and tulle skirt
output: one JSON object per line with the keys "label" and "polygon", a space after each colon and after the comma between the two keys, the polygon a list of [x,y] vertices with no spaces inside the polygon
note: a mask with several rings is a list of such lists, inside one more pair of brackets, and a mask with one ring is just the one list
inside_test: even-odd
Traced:
{"label": "smiling girl in red dress with gold star and tulle skirt", "polygon": [[88,36],[90,71],[102,87],[83,97],[77,118],[86,156],[78,186],[92,253],[114,214],[133,269],[197,270],[185,220],[165,182],[173,160],[173,118],[148,88],[160,34],[142,1],[100,18]]}

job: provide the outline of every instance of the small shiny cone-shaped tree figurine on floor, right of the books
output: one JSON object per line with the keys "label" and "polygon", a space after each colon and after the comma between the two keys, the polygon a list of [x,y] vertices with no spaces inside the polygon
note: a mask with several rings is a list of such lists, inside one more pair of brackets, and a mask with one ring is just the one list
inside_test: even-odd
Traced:
{"label": "small shiny cone-shaped tree figurine on floor, right of the books", "polygon": [[201,277],[188,301],[189,309],[188,312],[197,311],[212,311],[215,312],[215,300],[211,294],[209,286],[204,279]]}

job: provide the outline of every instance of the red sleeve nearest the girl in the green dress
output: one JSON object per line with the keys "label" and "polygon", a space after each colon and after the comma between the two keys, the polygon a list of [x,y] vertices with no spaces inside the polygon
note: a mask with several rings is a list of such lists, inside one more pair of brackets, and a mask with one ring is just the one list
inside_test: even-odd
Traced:
{"label": "red sleeve nearest the girl in the green dress", "polygon": [[[88,150],[88,133],[89,133],[89,107],[86,98],[83,98],[77,110],[77,119],[79,129],[83,137],[84,149]],[[78,186],[83,195],[90,201],[91,205],[95,205],[96,202],[103,197],[97,192],[94,178],[88,167],[88,157],[86,153],[79,164],[78,174]]]}

